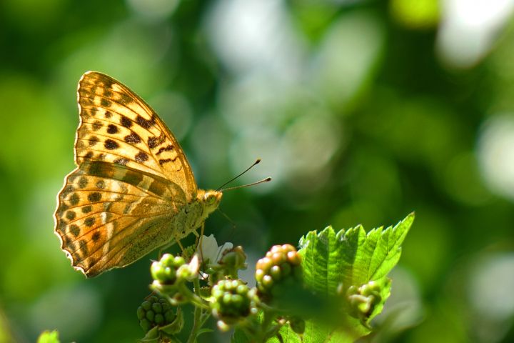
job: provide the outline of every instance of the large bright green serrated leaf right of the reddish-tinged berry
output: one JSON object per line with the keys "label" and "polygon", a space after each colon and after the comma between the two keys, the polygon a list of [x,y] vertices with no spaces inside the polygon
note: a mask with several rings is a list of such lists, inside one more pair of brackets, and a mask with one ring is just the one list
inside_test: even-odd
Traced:
{"label": "large bright green serrated leaf right of the reddish-tinged berry", "polygon": [[327,227],[320,233],[309,232],[301,238],[298,252],[302,256],[306,286],[328,299],[339,313],[347,306],[345,296],[349,287],[358,288],[368,282],[376,282],[380,287],[380,302],[374,304],[371,313],[360,317],[355,313],[351,315],[348,307],[347,313],[336,316],[337,324],[308,320],[303,342],[353,342],[371,332],[368,322],[381,312],[390,294],[390,282],[385,276],[398,263],[400,245],[413,220],[414,214],[409,214],[395,227],[385,230],[379,227],[368,234],[361,225],[337,234],[332,227]]}

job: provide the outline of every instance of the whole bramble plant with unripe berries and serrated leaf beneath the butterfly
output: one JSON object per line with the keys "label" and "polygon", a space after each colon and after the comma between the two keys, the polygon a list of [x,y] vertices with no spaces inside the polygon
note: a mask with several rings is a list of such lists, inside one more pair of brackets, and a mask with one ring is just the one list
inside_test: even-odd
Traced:
{"label": "whole bramble plant with unripe berries and serrated leaf beneath the butterfly", "polygon": [[[372,331],[371,319],[389,297],[387,274],[413,220],[409,214],[395,227],[367,234],[362,226],[308,232],[298,251],[276,245],[257,262],[253,288],[238,278],[246,268],[242,247],[218,254],[204,249],[193,257],[164,254],[151,265],[151,289],[159,297],[137,311],[146,332],[142,342],[181,342],[186,304],[194,307],[188,343],[211,331],[205,327],[211,315],[219,329],[234,328],[234,343],[353,342]],[[212,246],[212,238],[203,240]]]}

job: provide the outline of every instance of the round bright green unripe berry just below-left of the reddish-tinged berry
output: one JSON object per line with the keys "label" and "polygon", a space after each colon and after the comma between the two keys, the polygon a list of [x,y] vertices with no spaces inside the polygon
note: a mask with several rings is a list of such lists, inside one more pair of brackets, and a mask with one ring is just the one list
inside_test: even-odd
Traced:
{"label": "round bright green unripe berry just below-left of the reddish-tinged berry", "polygon": [[247,317],[255,308],[255,289],[250,289],[242,280],[220,280],[212,287],[211,309],[213,315],[225,324],[235,324]]}

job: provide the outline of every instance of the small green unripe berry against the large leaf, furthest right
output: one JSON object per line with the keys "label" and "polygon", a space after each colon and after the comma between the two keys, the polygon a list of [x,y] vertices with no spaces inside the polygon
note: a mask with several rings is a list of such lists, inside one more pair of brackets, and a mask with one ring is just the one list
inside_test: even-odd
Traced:
{"label": "small green unripe berry against the large leaf, furthest right", "polygon": [[360,319],[366,319],[382,300],[381,287],[377,282],[371,281],[361,287],[351,286],[346,294],[352,312]]}

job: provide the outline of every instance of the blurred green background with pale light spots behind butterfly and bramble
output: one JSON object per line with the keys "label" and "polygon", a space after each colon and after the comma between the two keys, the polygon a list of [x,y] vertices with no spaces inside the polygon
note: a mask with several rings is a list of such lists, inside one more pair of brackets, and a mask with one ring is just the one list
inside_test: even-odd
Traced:
{"label": "blurred green background with pale light spots behind butterfly and bramble", "polygon": [[[250,267],[309,230],[416,220],[371,342],[514,342],[514,4],[0,2],[0,342],[135,342],[150,259],[85,279],[53,232],[76,84],[102,71],[176,134],[206,234]],[[186,242],[187,243],[187,242]],[[204,342],[228,336],[205,334]]]}

